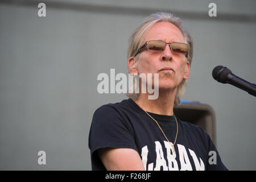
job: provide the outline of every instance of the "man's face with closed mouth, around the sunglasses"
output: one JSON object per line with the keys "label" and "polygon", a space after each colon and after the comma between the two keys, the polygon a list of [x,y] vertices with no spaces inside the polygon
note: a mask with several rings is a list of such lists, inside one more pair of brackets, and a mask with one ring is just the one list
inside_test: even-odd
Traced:
{"label": "man's face with closed mouth, around the sunglasses", "polygon": [[[179,28],[168,22],[154,24],[143,36],[143,43],[149,40],[162,40],[166,43],[185,43]],[[172,68],[163,70],[163,68]],[[164,51],[143,49],[136,63],[138,73],[159,73],[159,90],[172,89],[189,77],[189,62],[183,53],[172,52],[169,44]],[[154,80],[154,79],[153,79]]]}

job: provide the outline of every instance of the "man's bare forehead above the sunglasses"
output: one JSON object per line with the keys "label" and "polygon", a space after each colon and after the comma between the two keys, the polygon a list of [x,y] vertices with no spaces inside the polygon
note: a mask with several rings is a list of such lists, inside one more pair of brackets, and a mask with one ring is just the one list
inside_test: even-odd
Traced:
{"label": "man's bare forehead above the sunglasses", "polygon": [[168,22],[158,22],[150,27],[143,36],[143,42],[148,40],[163,40],[167,43],[185,43],[184,37],[179,28]]}

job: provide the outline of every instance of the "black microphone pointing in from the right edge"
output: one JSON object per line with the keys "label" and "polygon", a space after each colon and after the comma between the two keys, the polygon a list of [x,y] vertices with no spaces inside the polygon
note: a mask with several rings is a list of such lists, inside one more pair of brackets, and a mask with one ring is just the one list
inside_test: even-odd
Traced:
{"label": "black microphone pointing in from the right edge", "polygon": [[231,84],[245,90],[256,97],[256,85],[234,75],[230,69],[224,66],[217,66],[212,71],[212,77],[222,84]]}

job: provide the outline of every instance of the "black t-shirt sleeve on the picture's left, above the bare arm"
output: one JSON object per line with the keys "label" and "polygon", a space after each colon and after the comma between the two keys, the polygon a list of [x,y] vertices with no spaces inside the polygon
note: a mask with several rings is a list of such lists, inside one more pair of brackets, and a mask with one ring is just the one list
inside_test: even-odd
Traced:
{"label": "black t-shirt sleeve on the picture's left, above the bare arm", "polygon": [[138,151],[131,122],[125,114],[111,105],[101,106],[95,111],[89,134],[91,155],[106,147],[133,148]]}

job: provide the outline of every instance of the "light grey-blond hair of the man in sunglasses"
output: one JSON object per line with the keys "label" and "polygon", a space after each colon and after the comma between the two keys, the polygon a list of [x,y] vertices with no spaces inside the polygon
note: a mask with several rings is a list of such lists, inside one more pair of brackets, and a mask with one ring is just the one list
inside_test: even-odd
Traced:
{"label": "light grey-blond hair of the man in sunglasses", "polygon": [[[191,66],[192,63],[192,57],[193,57],[193,40],[191,35],[189,35],[188,31],[184,29],[183,24],[181,23],[180,18],[177,16],[174,16],[171,13],[165,13],[165,12],[160,12],[160,13],[155,13],[147,16],[147,18],[144,20],[144,22],[136,28],[136,30],[133,32],[133,34],[130,36],[129,39],[129,47],[127,51],[127,57],[132,57],[135,55],[135,53],[138,51],[139,46],[141,46],[143,42],[143,35],[144,33],[152,27],[155,23],[158,22],[169,22],[174,24],[181,33],[184,36],[185,43],[188,44],[188,57],[187,60],[189,61],[189,66]],[[138,54],[139,55],[139,54]],[[138,56],[137,55],[137,56]],[[136,56],[136,57],[137,57]],[[184,95],[185,93],[185,85],[187,84],[187,80],[183,79],[179,86],[177,87],[177,93],[175,97],[175,105],[180,104],[180,98]],[[139,86],[139,85],[134,85]],[[126,94],[128,97],[132,98],[133,100],[136,100],[137,97],[139,96],[138,93],[127,93]]]}

